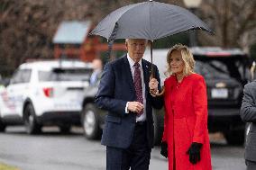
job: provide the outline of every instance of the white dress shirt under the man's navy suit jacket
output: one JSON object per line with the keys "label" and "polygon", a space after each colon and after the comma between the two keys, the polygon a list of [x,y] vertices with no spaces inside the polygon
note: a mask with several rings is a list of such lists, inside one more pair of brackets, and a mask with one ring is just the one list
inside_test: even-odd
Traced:
{"label": "white dress shirt under the man's navy suit jacket", "polygon": [[[134,82],[134,68],[133,68],[133,65],[135,64],[135,62],[133,61],[132,58],[130,58],[128,53],[127,53],[127,58],[128,58],[128,61],[129,61],[131,73],[132,73],[132,76],[133,76],[133,82]],[[144,109],[143,109],[143,113],[140,116],[136,117],[136,122],[137,121],[146,121],[146,97],[145,97],[144,74],[143,74],[143,69],[142,69],[142,59],[139,61],[139,64],[140,64],[141,78],[142,78],[142,97],[143,97]],[[128,111],[128,103],[126,103],[125,112],[129,113],[129,111]]]}

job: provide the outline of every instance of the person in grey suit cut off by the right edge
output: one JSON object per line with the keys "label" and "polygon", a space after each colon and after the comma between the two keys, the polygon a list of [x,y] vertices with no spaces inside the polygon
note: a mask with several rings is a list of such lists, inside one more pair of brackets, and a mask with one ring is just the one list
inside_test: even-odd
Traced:
{"label": "person in grey suit cut off by the right edge", "polygon": [[242,121],[251,122],[251,130],[249,131],[246,147],[245,147],[245,164],[247,170],[256,169],[256,81],[247,84],[243,89]]}

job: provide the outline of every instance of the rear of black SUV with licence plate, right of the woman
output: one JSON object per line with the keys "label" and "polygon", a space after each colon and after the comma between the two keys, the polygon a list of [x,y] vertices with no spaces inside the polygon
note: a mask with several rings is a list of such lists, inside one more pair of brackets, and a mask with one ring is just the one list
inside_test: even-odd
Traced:
{"label": "rear of black SUV with licence plate, right of the woman", "polygon": [[243,85],[250,79],[249,58],[240,49],[193,48],[195,71],[204,76],[208,96],[208,129],[221,131],[229,144],[242,144],[240,118]]}

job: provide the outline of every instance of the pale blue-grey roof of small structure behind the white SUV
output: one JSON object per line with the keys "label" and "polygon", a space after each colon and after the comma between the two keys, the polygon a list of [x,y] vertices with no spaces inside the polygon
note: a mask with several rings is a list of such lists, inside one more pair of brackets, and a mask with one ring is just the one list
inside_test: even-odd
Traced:
{"label": "pale blue-grey roof of small structure behind the white SUV", "polygon": [[59,28],[53,37],[55,44],[81,44],[86,38],[91,22],[66,21],[59,24]]}

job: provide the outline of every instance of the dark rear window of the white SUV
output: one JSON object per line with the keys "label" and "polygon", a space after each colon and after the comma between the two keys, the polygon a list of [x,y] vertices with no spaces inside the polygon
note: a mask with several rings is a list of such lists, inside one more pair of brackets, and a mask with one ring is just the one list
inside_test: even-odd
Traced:
{"label": "dark rear window of the white SUV", "polygon": [[50,71],[39,71],[39,81],[89,81],[92,69],[87,68],[56,68]]}

